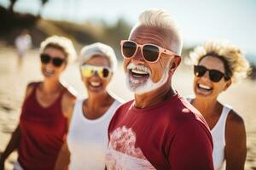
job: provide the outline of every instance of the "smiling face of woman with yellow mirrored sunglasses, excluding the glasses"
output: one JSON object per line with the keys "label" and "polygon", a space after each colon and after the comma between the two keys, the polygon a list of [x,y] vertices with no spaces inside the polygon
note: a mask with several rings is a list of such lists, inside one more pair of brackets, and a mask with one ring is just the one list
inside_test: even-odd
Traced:
{"label": "smiling face of woman with yellow mirrored sunglasses, excluding the glasses", "polygon": [[[110,68],[110,64],[108,59],[105,56],[100,54],[96,54],[87,60],[84,65],[94,65],[94,66],[103,66]],[[109,72],[109,76],[107,78],[99,77],[98,73],[95,73],[91,77],[84,77],[81,74],[82,81],[84,82],[84,86],[87,88],[88,93],[90,94],[102,94],[106,92],[106,88],[108,83],[112,78],[112,72]]]}

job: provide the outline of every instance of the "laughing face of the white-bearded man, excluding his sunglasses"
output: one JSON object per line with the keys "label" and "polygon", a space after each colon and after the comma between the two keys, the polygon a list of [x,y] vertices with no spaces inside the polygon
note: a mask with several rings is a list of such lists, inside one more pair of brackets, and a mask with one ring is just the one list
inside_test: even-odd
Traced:
{"label": "laughing face of the white-bearded man, excluding his sunglasses", "polygon": [[[138,26],[132,33],[129,40],[138,44],[153,43],[172,50],[172,35],[170,31],[160,28]],[[141,48],[131,59],[124,59],[124,70],[128,88],[135,94],[145,94],[154,89],[162,87],[170,77],[170,68],[174,56],[161,54],[156,63],[148,63],[143,59]],[[173,73],[173,72],[172,72]]]}

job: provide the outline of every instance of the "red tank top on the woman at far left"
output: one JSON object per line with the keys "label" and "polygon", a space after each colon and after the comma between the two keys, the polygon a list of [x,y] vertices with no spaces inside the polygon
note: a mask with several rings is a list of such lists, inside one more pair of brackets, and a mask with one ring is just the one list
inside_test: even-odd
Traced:
{"label": "red tank top on the woman at far left", "polygon": [[51,170],[67,134],[67,118],[61,111],[60,96],[44,108],[36,99],[38,82],[24,101],[20,115],[20,146],[18,161],[26,170]]}

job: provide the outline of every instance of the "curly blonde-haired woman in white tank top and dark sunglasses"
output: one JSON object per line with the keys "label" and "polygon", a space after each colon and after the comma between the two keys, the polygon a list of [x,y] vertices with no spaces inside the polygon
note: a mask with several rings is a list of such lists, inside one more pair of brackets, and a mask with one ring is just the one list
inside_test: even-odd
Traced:
{"label": "curly blonde-haired woman in white tank top and dark sunglasses", "polygon": [[[218,95],[232,82],[247,77],[249,64],[239,48],[227,41],[208,41],[190,53],[194,64],[195,98],[189,102],[211,129],[214,169],[241,170],[247,156],[244,122]],[[234,96],[241,100],[242,96]],[[225,161],[225,162],[224,162]]]}

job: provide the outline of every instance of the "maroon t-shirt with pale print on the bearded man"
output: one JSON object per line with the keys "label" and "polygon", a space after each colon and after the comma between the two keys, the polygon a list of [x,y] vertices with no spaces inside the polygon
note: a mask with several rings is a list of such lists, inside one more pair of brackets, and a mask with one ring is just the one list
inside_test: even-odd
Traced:
{"label": "maroon t-shirt with pale print on the bearded man", "polygon": [[108,138],[108,169],[213,170],[207,123],[178,94],[145,109],[134,100],[121,105]]}

